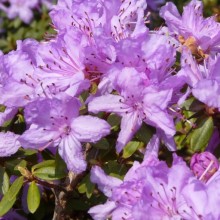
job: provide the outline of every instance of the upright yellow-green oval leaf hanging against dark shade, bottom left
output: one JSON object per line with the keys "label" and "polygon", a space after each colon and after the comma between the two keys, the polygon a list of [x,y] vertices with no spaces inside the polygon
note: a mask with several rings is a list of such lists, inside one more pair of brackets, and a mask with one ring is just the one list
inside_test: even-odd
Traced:
{"label": "upright yellow-green oval leaf hanging against dark shade, bottom left", "polygon": [[31,182],[28,188],[27,205],[31,213],[34,213],[40,205],[40,190],[35,181]]}

